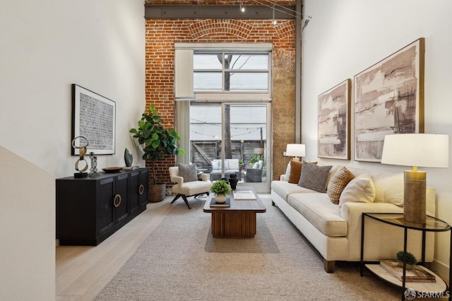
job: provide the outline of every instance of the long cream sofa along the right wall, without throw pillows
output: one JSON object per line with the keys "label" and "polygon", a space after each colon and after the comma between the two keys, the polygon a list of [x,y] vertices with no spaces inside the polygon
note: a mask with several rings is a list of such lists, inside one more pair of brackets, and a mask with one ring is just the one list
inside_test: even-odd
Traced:
{"label": "long cream sofa along the right wall, without throw pillows", "polygon": [[[340,166],[333,165],[328,173],[328,182]],[[290,164],[279,181],[271,183],[271,199],[287,218],[311,242],[323,257],[325,271],[331,273],[335,261],[360,261],[362,213],[403,213],[403,173],[378,172],[347,167],[356,180],[345,189],[357,196],[357,178],[370,177],[375,197],[372,202],[349,201],[332,203],[328,194],[287,182]],[[303,170],[302,170],[303,172]],[[359,176],[359,177],[358,177]],[[350,185],[350,186],[349,186]],[[341,198],[346,190],[344,189]],[[358,189],[359,191],[359,189]],[[359,199],[359,196],[357,196]],[[434,216],[435,191],[427,187],[427,214]],[[365,222],[364,260],[379,261],[395,259],[403,250],[403,228],[380,223],[371,218]],[[425,261],[434,258],[434,233],[427,232]],[[408,231],[408,252],[418,260],[422,254],[422,232]]]}

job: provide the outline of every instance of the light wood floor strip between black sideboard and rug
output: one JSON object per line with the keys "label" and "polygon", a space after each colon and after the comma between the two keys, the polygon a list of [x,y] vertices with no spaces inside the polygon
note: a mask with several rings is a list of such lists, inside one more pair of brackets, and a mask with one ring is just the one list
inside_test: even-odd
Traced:
{"label": "light wood floor strip between black sideboard and rug", "polygon": [[168,196],[148,203],[143,213],[97,247],[57,247],[57,301],[93,300],[171,211],[171,201]]}

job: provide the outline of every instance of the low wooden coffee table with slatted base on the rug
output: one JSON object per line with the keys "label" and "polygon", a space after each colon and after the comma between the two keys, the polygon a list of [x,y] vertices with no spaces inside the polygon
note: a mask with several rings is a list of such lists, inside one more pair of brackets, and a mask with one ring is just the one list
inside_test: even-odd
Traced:
{"label": "low wooden coffee table with slatted base on the rug", "polygon": [[210,207],[213,194],[209,194],[204,212],[212,213],[212,235],[219,238],[251,238],[256,235],[256,213],[266,212],[266,206],[252,187],[237,187],[237,190],[253,191],[255,200],[234,200],[232,192],[230,207]]}

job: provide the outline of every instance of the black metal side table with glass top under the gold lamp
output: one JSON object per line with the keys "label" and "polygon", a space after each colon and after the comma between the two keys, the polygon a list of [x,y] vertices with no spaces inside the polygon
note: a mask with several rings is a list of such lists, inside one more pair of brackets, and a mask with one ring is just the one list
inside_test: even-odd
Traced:
{"label": "black metal side table with glass top under the gold lamp", "polygon": [[[450,249],[451,249],[451,256],[452,256],[452,231],[451,231],[451,225],[448,225],[448,223],[444,222],[443,220],[440,220],[438,218],[434,218],[432,216],[427,216],[427,220],[425,224],[419,224],[419,223],[410,223],[406,220],[403,220],[403,213],[362,213],[362,220],[361,220],[361,264],[359,267],[359,272],[361,273],[361,276],[363,276],[364,273],[364,221],[366,218],[372,218],[374,220],[377,220],[381,223],[386,223],[389,225],[393,225],[396,227],[403,228],[404,230],[404,237],[403,237],[403,252],[407,252],[407,236],[408,236],[408,229],[410,230],[418,230],[422,231],[422,261],[420,264],[424,266],[425,263],[425,238],[427,232],[451,232],[451,242],[450,242]],[[376,268],[376,266],[379,266],[379,264],[366,264],[367,268],[369,268],[370,271],[373,273],[376,273],[379,275],[379,268]],[[427,269],[427,268],[424,268]],[[433,273],[432,271],[429,271],[430,273]],[[403,263],[403,278],[401,282],[402,286],[402,300],[405,300],[405,290],[406,290],[406,283],[405,283],[405,273],[406,273],[406,262]],[[380,276],[380,275],[379,275]],[[384,277],[382,277],[384,278]],[[390,281],[393,284],[400,285],[400,281],[398,283],[393,282],[389,279],[385,279],[386,281]],[[449,281],[452,280],[452,271],[451,271],[451,259],[449,259]],[[439,285],[436,285],[436,288],[440,286],[441,288],[444,285],[444,292],[448,293],[448,300],[451,300],[451,287],[447,288],[446,283],[442,281],[441,278],[436,277],[436,282],[441,281]],[[412,284],[412,283],[411,283]],[[422,288],[425,288],[428,286],[429,283],[422,283]],[[438,283],[436,283],[438,284]]]}

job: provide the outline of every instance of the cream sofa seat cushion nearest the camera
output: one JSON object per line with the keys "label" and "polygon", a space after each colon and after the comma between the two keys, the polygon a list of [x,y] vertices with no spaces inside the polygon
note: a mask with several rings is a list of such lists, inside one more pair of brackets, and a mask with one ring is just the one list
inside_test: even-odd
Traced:
{"label": "cream sofa seat cushion nearest the camera", "polygon": [[339,207],[331,203],[326,194],[290,194],[292,208],[328,236],[347,236],[347,220],[340,216]]}

